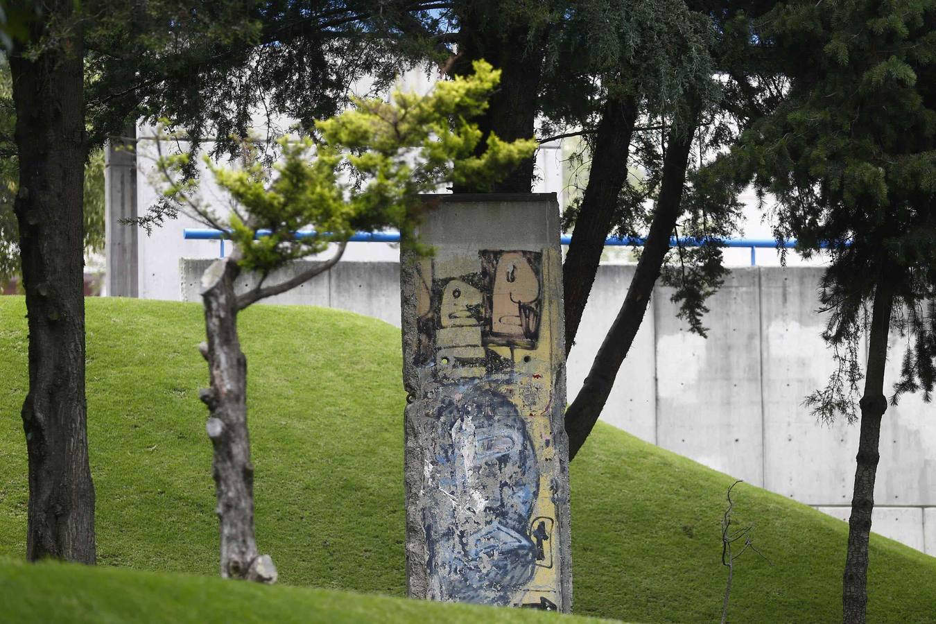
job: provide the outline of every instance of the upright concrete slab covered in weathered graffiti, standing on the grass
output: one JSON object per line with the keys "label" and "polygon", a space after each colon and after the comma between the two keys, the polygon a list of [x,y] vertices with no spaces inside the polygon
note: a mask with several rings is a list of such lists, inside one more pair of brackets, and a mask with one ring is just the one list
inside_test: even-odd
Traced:
{"label": "upright concrete slab covered in weathered graffiti, standing on the grass", "polygon": [[554,194],[427,196],[402,254],[409,595],[569,611]]}

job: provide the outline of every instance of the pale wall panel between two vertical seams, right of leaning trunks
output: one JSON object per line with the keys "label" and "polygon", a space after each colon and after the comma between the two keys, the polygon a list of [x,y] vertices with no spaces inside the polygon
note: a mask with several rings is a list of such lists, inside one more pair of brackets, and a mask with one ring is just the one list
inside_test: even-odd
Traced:
{"label": "pale wall panel between two vertical seams, right of leaning trunks", "polygon": [[657,443],[748,483],[764,483],[760,301],[756,268],[736,269],[707,303],[709,338],[657,288]]}

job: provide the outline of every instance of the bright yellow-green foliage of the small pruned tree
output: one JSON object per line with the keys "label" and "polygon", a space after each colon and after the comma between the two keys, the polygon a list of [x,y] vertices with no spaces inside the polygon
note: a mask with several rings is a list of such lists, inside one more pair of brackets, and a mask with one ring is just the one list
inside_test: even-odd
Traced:
{"label": "bright yellow-green foliage of the small pruned tree", "polygon": [[[235,202],[227,219],[189,203],[197,218],[230,232],[242,268],[269,272],[290,260],[324,251],[356,230],[395,227],[412,234],[422,202],[446,182],[496,181],[529,158],[534,139],[505,142],[482,133],[471,119],[488,108],[501,72],[484,61],[475,74],[439,82],[430,94],[394,92],[389,102],[353,98],[351,109],[316,123],[318,137],[281,139],[282,159],[272,171],[261,163],[229,169],[206,163]],[[482,149],[483,148],[483,149]],[[164,159],[164,170],[184,156]],[[185,182],[168,195],[184,196]],[[297,238],[300,228],[314,237]],[[256,236],[257,230],[269,234]]]}

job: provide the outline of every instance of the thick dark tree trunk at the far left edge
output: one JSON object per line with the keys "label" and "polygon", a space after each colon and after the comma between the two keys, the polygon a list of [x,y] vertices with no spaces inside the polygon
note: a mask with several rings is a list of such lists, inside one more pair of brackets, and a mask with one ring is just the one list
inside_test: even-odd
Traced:
{"label": "thick dark tree trunk at the far left edge", "polygon": [[[9,59],[16,107],[22,283],[29,326],[26,558],[95,563],[95,487],[84,397],[85,161],[83,48],[70,0],[49,7],[67,24],[34,59]],[[43,36],[34,25],[31,39]]]}

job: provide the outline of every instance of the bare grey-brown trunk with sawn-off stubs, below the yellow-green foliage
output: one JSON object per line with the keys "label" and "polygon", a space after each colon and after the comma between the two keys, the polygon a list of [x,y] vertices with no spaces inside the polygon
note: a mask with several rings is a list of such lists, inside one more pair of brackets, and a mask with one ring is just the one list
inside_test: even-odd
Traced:
{"label": "bare grey-brown trunk with sawn-off stubs, below the yellow-green foliage", "polygon": [[221,575],[274,583],[276,567],[259,555],[254,533],[254,465],[247,430],[247,358],[237,333],[238,301],[234,282],[239,254],[216,260],[202,277],[208,343],[199,346],[208,360],[211,387],[200,399],[211,415],[206,428],[212,440],[212,473],[221,531]]}

